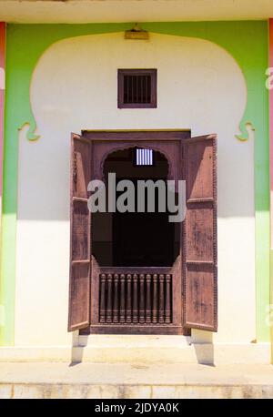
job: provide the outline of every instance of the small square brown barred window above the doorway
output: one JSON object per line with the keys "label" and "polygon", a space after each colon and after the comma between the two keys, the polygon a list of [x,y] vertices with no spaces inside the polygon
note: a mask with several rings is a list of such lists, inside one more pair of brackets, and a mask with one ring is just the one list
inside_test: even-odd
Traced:
{"label": "small square brown barred window above the doorway", "polygon": [[157,69],[118,69],[117,107],[156,108]]}

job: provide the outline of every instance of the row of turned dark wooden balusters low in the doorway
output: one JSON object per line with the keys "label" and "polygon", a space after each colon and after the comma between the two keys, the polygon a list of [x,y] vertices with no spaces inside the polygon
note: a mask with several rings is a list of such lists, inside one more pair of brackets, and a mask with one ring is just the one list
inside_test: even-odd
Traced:
{"label": "row of turned dark wooden balusters low in the doorway", "polygon": [[101,324],[172,323],[172,275],[100,274]]}

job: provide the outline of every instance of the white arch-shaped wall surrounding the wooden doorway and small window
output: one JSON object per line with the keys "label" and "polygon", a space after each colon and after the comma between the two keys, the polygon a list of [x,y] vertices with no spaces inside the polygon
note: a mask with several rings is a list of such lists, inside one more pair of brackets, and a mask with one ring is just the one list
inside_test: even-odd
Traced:
{"label": "white arch-shaped wall surrounding the wooden doorway and small window", "polygon": [[[117,109],[116,69],[155,67],[157,109]],[[244,77],[219,46],[151,34],[82,36],[49,47],[31,83],[41,138],[20,137],[15,343],[69,345],[70,132],[82,128],[191,128],[218,135],[218,318],[214,341],[255,339],[253,138],[235,138]],[[197,334],[197,332],[195,332]]]}

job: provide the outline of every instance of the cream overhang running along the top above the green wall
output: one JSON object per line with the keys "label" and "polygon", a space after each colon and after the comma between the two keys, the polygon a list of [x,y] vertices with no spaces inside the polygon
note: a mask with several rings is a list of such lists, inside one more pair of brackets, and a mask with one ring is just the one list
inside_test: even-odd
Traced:
{"label": "cream overhang running along the top above the green wall", "polygon": [[264,20],[273,0],[0,0],[14,23]]}

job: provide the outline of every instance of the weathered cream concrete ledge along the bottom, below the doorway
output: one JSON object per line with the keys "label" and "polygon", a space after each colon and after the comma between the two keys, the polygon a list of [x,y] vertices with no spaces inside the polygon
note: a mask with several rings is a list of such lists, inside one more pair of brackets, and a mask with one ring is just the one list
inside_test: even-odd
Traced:
{"label": "weathered cream concrete ledge along the bottom, below the doorway", "polygon": [[0,398],[273,398],[273,366],[0,362]]}

